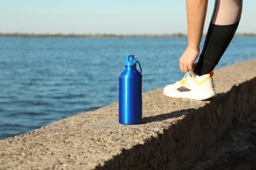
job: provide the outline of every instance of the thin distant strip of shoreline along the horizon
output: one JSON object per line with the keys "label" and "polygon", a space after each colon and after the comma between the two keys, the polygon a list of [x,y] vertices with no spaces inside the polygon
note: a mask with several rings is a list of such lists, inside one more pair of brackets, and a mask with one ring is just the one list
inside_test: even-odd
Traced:
{"label": "thin distant strip of shoreline along the horizon", "polygon": [[[183,33],[174,34],[34,34],[34,33],[0,33],[0,37],[56,37],[56,38],[186,38]],[[203,34],[205,37],[205,34]],[[236,33],[235,37],[256,37],[256,33]]]}

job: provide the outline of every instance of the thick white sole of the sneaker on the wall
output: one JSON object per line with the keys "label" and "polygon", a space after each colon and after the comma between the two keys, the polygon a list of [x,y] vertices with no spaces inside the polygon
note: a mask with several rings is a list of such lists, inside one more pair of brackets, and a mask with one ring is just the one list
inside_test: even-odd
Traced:
{"label": "thick white sole of the sneaker on the wall", "polygon": [[163,89],[163,93],[168,97],[186,98],[194,100],[211,99],[217,96],[214,88],[200,91],[191,90],[189,92],[169,92],[168,90]]}

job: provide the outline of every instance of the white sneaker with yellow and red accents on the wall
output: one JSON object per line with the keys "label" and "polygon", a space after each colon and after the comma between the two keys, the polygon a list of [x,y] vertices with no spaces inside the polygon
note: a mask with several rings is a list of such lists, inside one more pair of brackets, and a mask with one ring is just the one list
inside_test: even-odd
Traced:
{"label": "white sneaker with yellow and red accents on the wall", "polygon": [[217,96],[213,85],[213,71],[198,76],[193,71],[186,73],[181,81],[165,86],[163,93],[169,97],[205,100]]}

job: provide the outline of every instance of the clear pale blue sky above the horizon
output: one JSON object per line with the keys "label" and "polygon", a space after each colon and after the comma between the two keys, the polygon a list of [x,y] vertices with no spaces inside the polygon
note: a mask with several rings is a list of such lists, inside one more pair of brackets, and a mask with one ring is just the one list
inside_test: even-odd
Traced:
{"label": "clear pale blue sky above the horizon", "polygon": [[[213,11],[209,0],[205,29]],[[245,0],[238,33],[256,33],[256,0]],[[0,33],[186,33],[185,0],[0,0]]]}

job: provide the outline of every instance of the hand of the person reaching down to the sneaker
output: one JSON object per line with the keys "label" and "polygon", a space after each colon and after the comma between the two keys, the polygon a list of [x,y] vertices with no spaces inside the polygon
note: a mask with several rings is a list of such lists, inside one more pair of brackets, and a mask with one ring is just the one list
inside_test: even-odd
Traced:
{"label": "hand of the person reaching down to the sneaker", "polygon": [[188,46],[182,54],[180,61],[180,69],[182,72],[188,72],[194,70],[194,62],[198,58],[200,50],[199,48],[192,48]]}

